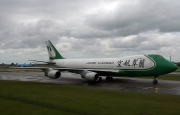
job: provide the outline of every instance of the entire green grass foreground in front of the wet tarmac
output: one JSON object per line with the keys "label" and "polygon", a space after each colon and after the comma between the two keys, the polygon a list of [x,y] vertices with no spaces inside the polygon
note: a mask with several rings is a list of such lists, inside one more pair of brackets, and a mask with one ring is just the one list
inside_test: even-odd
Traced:
{"label": "entire green grass foreground in front of the wet tarmac", "polygon": [[179,115],[180,96],[0,81],[0,114]]}

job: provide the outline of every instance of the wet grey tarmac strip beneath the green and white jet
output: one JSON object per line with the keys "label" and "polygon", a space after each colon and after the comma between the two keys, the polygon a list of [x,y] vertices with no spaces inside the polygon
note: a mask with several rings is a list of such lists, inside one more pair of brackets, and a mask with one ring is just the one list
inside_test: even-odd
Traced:
{"label": "wet grey tarmac strip beneath the green and white jet", "polygon": [[43,72],[1,72],[0,80],[33,81],[54,84],[71,84],[93,88],[110,90],[124,90],[134,92],[163,93],[180,95],[180,81],[158,80],[157,85],[152,84],[152,79],[115,77],[108,82],[103,78],[102,82],[88,83],[80,75],[62,73],[59,79],[50,79]]}

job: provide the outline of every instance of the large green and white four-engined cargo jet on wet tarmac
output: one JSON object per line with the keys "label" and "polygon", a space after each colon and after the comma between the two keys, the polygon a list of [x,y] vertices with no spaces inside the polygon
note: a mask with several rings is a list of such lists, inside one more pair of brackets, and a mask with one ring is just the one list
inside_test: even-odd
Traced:
{"label": "large green and white four-engined cargo jet on wet tarmac", "polygon": [[106,80],[112,80],[112,76],[154,76],[153,84],[157,84],[158,76],[177,69],[175,64],[158,54],[141,54],[121,58],[65,59],[50,41],[46,41],[46,46],[49,53],[49,61],[46,63],[53,64],[57,68],[26,68],[41,69],[45,76],[52,79],[59,78],[62,71],[69,71],[80,74],[88,81],[101,81],[101,76],[106,76]]}

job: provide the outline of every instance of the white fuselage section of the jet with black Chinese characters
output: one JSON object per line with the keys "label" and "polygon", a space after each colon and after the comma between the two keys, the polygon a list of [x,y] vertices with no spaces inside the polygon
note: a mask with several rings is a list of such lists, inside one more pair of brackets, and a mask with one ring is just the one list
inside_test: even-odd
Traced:
{"label": "white fuselage section of the jet with black Chinese characters", "polygon": [[151,69],[155,62],[145,55],[134,55],[122,58],[99,59],[59,59],[53,60],[57,67],[84,69]]}

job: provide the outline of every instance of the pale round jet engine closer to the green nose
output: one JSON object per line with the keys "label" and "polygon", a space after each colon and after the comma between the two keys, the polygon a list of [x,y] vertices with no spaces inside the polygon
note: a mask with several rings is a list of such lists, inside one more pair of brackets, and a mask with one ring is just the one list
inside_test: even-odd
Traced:
{"label": "pale round jet engine closer to the green nose", "polygon": [[89,72],[89,73],[86,73],[84,78],[87,79],[88,81],[98,81],[99,80],[99,74],[97,74],[95,72]]}

